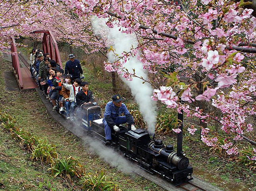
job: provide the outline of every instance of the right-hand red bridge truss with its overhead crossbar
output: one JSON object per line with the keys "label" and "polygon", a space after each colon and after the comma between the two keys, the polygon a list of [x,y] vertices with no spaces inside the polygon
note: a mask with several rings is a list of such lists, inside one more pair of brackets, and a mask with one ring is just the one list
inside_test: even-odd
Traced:
{"label": "right-hand red bridge truss with its overhead crossbar", "polygon": [[36,30],[34,32],[31,32],[31,34],[35,33],[44,33],[43,39],[42,39],[42,47],[44,53],[49,53],[51,59],[55,60],[60,67],[62,68],[62,61],[60,59],[60,52],[58,49],[57,42],[52,34],[52,31],[50,30]]}

